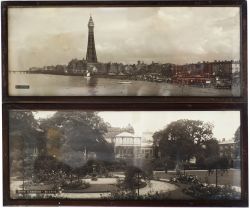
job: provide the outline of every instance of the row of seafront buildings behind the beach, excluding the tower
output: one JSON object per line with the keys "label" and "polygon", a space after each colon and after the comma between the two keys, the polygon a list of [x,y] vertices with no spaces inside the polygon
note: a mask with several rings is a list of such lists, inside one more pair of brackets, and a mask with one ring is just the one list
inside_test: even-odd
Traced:
{"label": "row of seafront buildings behind the beach, excluding the tower", "polygon": [[213,75],[224,74],[225,76],[240,71],[239,61],[213,61],[213,62],[198,62],[191,64],[171,64],[171,63],[155,63],[146,64],[138,61],[137,64],[123,64],[123,63],[91,63],[84,59],[71,60],[68,65],[51,65],[44,67],[31,67],[29,72],[54,72],[63,74],[84,74],[89,68],[94,68],[96,74],[110,74],[110,75],[135,75],[158,73],[165,76],[173,76],[176,74],[183,75]]}

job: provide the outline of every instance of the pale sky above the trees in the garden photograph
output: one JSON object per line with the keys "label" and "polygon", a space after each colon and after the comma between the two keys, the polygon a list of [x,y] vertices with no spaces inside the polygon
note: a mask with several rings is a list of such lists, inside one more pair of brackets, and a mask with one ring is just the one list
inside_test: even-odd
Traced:
{"label": "pale sky above the trees in the garden photograph", "polygon": [[[35,118],[48,118],[54,113],[55,111],[37,111]],[[240,126],[240,111],[102,111],[98,115],[113,127],[132,125],[138,136],[143,132],[164,129],[179,119],[192,119],[212,123],[215,138],[230,140]]]}

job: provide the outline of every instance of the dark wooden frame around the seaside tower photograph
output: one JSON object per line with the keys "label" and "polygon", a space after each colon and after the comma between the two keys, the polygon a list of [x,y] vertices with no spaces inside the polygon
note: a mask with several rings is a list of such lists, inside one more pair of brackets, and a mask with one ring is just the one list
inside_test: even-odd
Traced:
{"label": "dark wooden frame around the seaside tower photograph", "polygon": [[[28,7],[232,7],[240,8],[240,77],[241,95],[239,97],[201,97],[201,96],[10,96],[8,94],[8,8],[15,6]],[[3,69],[3,101],[4,102],[245,102],[247,99],[247,12],[245,1],[27,1],[27,2],[3,2],[2,3],[2,69]]]}

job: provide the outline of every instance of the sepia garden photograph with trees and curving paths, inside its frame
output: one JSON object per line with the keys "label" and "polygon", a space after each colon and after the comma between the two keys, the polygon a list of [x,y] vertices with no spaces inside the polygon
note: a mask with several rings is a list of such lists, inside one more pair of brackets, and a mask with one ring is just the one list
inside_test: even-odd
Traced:
{"label": "sepia garden photograph with trees and curving paths, inside its frame", "polygon": [[9,111],[11,199],[240,200],[240,111]]}

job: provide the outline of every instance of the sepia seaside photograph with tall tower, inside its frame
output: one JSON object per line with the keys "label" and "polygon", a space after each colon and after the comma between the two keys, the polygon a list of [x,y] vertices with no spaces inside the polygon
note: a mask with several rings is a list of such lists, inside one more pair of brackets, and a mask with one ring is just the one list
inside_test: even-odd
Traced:
{"label": "sepia seaside photograph with tall tower, inside its frame", "polygon": [[241,96],[239,6],[7,9],[9,96]]}

